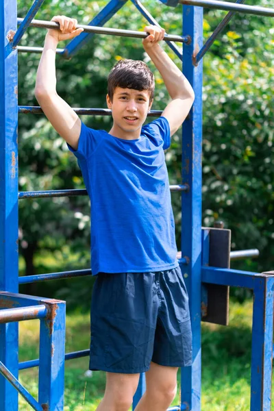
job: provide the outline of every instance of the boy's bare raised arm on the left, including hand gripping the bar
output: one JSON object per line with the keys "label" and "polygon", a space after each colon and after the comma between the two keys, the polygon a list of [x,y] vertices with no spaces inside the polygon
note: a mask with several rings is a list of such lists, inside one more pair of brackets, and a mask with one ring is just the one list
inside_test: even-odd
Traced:
{"label": "boy's bare raised arm on the left, including hand gripping the bar", "polygon": [[77,149],[81,121],[73,109],[56,92],[55,54],[58,42],[78,36],[77,21],[66,16],[55,16],[60,30],[50,29],[45,38],[44,50],[38,66],[35,96],[47,119],[66,142]]}

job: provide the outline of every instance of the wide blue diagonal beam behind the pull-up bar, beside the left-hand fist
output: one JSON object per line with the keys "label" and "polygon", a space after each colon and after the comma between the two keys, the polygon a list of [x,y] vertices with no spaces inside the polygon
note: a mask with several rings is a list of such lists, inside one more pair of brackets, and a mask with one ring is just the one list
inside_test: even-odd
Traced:
{"label": "wide blue diagonal beam behind the pull-up bar, beside the left-hand fist", "polygon": [[[101,12],[99,12],[99,14],[97,14],[97,16],[95,16],[89,24],[103,26],[123,7],[125,3],[127,3],[127,0],[111,0],[110,3],[105,5],[103,10],[101,10]],[[79,49],[91,40],[92,36],[94,36],[94,34],[82,33],[79,37],[71,40],[69,45],[66,46],[66,55],[71,56],[77,53]]]}

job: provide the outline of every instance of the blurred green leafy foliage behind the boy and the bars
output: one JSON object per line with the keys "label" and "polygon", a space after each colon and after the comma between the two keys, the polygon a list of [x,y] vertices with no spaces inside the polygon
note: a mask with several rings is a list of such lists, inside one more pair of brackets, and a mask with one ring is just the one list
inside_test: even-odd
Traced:
{"label": "blurred green leafy foliage behind the boy and the bars", "polygon": [[[256,1],[267,6],[267,1]],[[18,0],[18,14],[27,4]],[[69,14],[88,23],[105,1],[45,0],[37,18]],[[181,8],[144,1],[145,7],[171,34],[182,31]],[[204,38],[212,34],[225,12],[205,10]],[[112,17],[107,27],[142,29],[147,22],[131,2]],[[21,45],[42,46],[45,31],[31,28]],[[236,14],[203,59],[203,225],[222,219],[232,229],[232,248],[258,247],[258,263],[237,263],[239,268],[273,268],[273,44],[271,18]],[[63,45],[60,45],[62,47]],[[176,64],[179,59],[164,45]],[[39,55],[19,55],[19,103],[36,105],[34,84]],[[140,40],[95,35],[69,62],[57,57],[58,92],[73,107],[106,107],[106,77],[121,57],[145,59]],[[160,75],[154,109],[169,100]],[[110,129],[108,117],[82,117],[90,127]],[[73,156],[44,116],[19,116],[20,190],[83,188]],[[181,181],[181,131],[166,153],[171,184]],[[172,196],[177,243],[180,238],[181,197]],[[89,202],[77,199],[41,199],[20,202],[21,253],[27,273],[29,261],[42,249],[82,253],[79,268],[88,265]]]}

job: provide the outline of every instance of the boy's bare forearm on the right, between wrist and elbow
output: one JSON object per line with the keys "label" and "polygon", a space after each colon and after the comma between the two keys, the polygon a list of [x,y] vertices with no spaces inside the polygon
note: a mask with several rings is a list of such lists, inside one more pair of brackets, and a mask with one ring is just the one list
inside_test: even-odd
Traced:
{"label": "boy's bare forearm on the right, between wrist and elbow", "polygon": [[160,45],[145,48],[145,51],[162,76],[171,99],[194,97],[190,83]]}

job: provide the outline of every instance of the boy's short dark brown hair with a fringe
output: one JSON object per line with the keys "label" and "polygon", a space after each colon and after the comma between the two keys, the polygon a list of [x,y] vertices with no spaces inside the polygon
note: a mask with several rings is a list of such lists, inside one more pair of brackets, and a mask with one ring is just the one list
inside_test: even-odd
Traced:
{"label": "boy's short dark brown hair with a fringe", "polygon": [[108,75],[108,95],[112,101],[116,87],[149,90],[149,100],[154,95],[154,76],[144,62],[140,60],[119,60]]}

